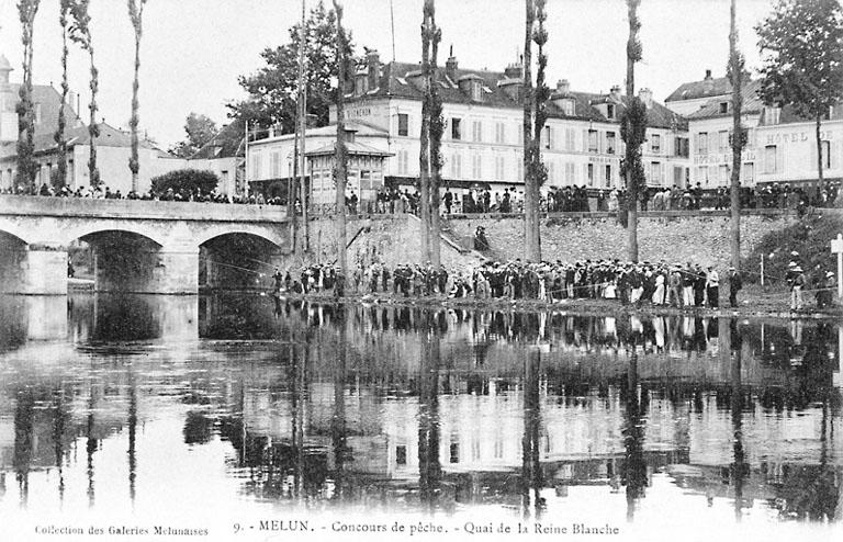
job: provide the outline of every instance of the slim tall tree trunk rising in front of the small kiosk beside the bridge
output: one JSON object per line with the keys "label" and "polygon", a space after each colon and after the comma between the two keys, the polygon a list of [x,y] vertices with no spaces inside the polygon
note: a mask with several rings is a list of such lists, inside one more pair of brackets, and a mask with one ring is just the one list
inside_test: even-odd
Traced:
{"label": "slim tall tree trunk rising in front of the small kiosk beside the bridge", "polygon": [[[337,149],[336,172],[336,228],[337,228],[337,264],[342,276],[348,279],[348,261],[346,258],[346,183],[348,181],[348,150],[346,148],[346,34],[342,30],[342,7],[334,0],[334,11],[337,12]],[[345,332],[346,323],[340,330]],[[345,355],[345,341],[341,341]],[[345,361],[345,360],[342,360]]]}

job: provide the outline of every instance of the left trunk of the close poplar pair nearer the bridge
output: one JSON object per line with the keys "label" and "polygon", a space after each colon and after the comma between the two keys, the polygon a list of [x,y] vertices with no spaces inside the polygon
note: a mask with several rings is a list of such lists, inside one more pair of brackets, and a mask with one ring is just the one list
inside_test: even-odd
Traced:
{"label": "left trunk of the close poplar pair nearer the bridge", "polygon": [[430,259],[430,18],[427,12],[427,3],[424,7],[422,22],[422,80],[425,84],[425,95],[422,101],[422,133],[418,153],[418,191],[419,210],[418,217],[422,222],[422,261]]}

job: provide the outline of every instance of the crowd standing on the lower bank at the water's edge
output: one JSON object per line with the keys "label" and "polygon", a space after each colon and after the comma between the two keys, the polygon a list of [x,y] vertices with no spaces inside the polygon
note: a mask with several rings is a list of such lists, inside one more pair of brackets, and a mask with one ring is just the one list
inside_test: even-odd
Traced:
{"label": "crowd standing on the lower bank at the water's edge", "polygon": [[[400,264],[394,269],[381,263],[358,266],[345,278],[334,266],[314,264],[299,275],[291,271],[274,273],[280,292],[311,294],[327,292],[345,295],[392,294],[398,297],[448,296],[451,298],[533,300],[559,303],[564,300],[617,300],[623,305],[717,308],[721,279],[712,267],[631,263],[619,260],[578,261],[575,263],[529,263],[485,261],[467,271],[449,271],[430,263]],[[724,278],[731,306],[738,304],[742,289],[739,273],[730,269]]]}

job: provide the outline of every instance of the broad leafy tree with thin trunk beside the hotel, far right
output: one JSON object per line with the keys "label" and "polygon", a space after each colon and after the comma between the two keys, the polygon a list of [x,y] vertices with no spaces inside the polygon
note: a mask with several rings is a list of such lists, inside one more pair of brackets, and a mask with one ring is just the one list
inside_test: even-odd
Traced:
{"label": "broad leafy tree with thin trunk beside the hotel, far right", "polygon": [[755,27],[764,102],[814,121],[817,190],[823,188],[822,121],[843,99],[843,7],[839,0],[778,0]]}

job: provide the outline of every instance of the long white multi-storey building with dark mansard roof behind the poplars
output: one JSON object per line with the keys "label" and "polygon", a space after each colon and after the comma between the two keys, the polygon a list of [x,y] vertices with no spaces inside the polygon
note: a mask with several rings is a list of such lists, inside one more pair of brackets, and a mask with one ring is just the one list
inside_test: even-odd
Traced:
{"label": "long white multi-storey building with dark mansard roof behind the poplars", "polygon": [[[450,57],[438,70],[445,135],[441,154],[445,187],[503,191],[524,185],[522,79],[519,65],[504,71],[460,69]],[[419,173],[419,132],[424,80],[418,65],[382,64],[374,50],[349,83],[346,120],[359,144],[386,156],[384,182],[413,185]],[[642,90],[648,106],[644,167],[648,184],[671,187],[687,179],[687,123]],[[550,187],[586,187],[596,191],[621,188],[623,144],[620,117],[628,99],[620,88],[609,93],[572,91],[560,81],[551,92],[548,121],[541,134],[542,159]],[[333,126],[310,129],[306,148],[333,142]],[[268,137],[249,146],[249,179],[278,185],[292,174],[292,135]],[[265,162],[272,166],[265,168]],[[286,170],[283,163],[286,162]]]}

